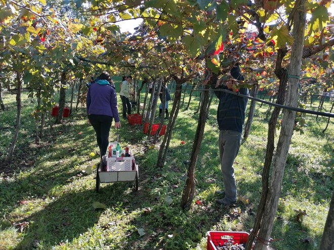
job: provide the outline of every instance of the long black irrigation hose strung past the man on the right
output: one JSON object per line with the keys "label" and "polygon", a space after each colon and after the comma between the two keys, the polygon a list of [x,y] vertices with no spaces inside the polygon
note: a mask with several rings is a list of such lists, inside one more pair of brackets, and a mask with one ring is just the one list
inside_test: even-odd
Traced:
{"label": "long black irrigation hose strung past the man on the right", "polygon": [[281,108],[281,109],[292,110],[292,111],[296,111],[296,112],[301,112],[301,113],[306,113],[306,114],[311,114],[311,115],[324,116],[324,117],[331,117],[331,118],[334,117],[334,113],[325,113],[325,112],[319,112],[319,111],[313,111],[313,110],[305,110],[305,109],[300,109],[300,108],[294,108],[294,107],[290,107],[290,106],[275,104],[275,103],[264,101],[263,99],[259,99],[259,98],[249,96],[249,95],[240,94],[239,92],[233,92],[233,91],[230,91],[230,90],[227,90],[227,89],[194,89],[193,91],[223,91],[223,92],[226,92],[226,93],[234,94],[236,96],[245,97],[247,99],[255,100],[257,102],[268,104],[268,105],[278,107],[278,108]]}

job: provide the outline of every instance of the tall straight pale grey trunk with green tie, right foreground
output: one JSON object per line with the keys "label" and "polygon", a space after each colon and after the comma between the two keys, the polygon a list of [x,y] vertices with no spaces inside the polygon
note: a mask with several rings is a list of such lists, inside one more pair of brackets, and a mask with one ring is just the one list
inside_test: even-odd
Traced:
{"label": "tall straight pale grey trunk with green tie, right foreground", "polygon": [[[289,65],[289,74],[299,76],[301,73],[301,64],[304,46],[304,31],[306,23],[305,0],[296,1],[297,11],[294,18],[293,36],[294,44],[291,48],[291,61]],[[286,105],[290,107],[298,106],[299,79],[290,77],[287,89]],[[296,111],[284,110],[281,132],[278,139],[275,163],[272,171],[272,178],[267,196],[267,203],[261,223],[259,238],[255,244],[255,250],[267,249],[270,234],[272,231],[275,214],[277,211],[278,199],[282,186],[284,168],[286,164],[287,153],[289,150],[291,137],[293,135]]]}

